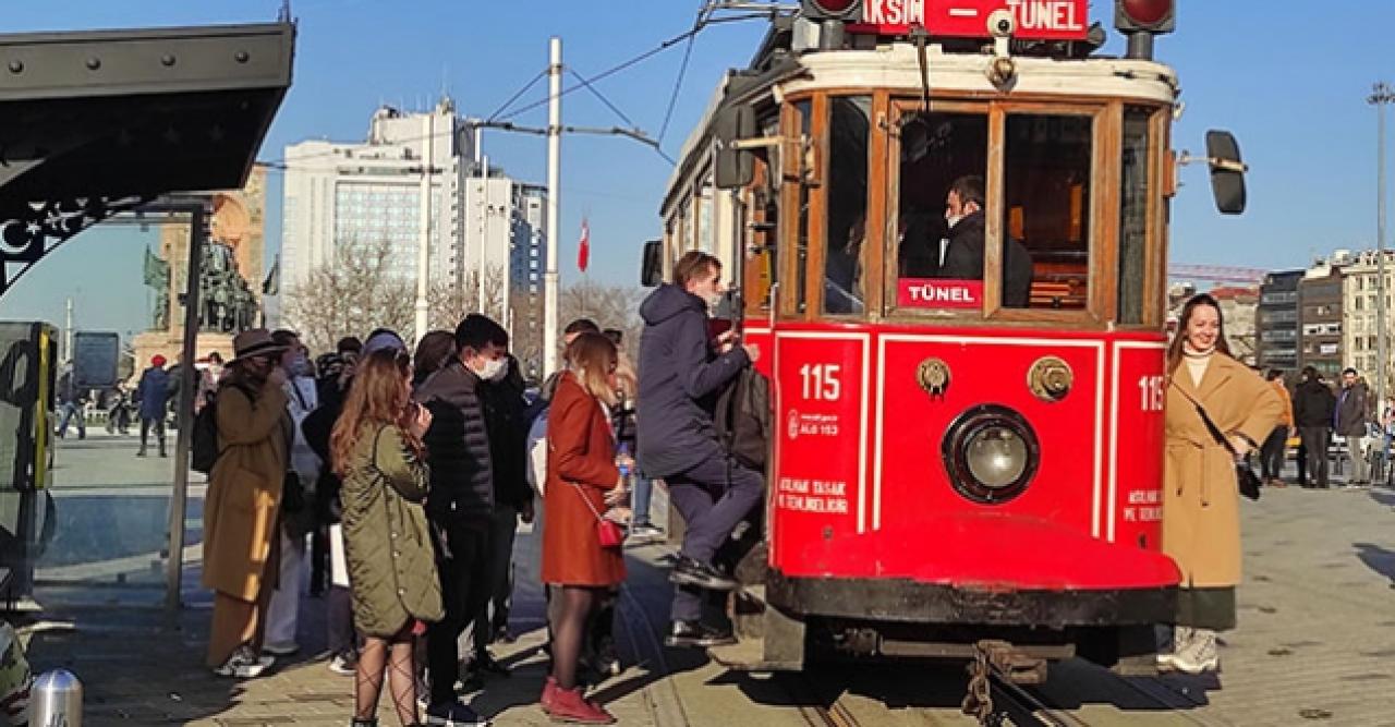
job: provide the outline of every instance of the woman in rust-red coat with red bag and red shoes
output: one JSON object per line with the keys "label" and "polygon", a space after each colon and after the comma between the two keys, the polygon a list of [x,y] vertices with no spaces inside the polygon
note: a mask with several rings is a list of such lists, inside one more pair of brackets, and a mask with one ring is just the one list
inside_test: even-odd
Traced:
{"label": "woman in rust-red coat with red bag and red shoes", "polygon": [[582,333],[568,346],[566,359],[571,370],[562,374],[547,414],[543,582],[561,586],[554,597],[562,599],[562,607],[552,621],[552,674],[541,702],[555,719],[611,724],[615,717],[583,698],[576,661],[587,615],[608,589],[625,580],[619,547],[601,547],[596,532],[608,508],[607,491],[621,484],[605,412],[615,403],[615,345],[600,333]]}

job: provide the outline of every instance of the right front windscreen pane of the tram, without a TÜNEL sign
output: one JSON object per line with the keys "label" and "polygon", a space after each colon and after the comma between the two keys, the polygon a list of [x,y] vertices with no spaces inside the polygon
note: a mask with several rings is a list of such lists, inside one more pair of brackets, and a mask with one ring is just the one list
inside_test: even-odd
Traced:
{"label": "right front windscreen pane of the tram, without a T\u00dcNEL sign", "polygon": [[1007,117],[1003,230],[1009,246],[1020,241],[1030,255],[1031,287],[1023,306],[1010,306],[1004,287],[1004,307],[1085,307],[1092,141],[1094,119],[1087,116]]}

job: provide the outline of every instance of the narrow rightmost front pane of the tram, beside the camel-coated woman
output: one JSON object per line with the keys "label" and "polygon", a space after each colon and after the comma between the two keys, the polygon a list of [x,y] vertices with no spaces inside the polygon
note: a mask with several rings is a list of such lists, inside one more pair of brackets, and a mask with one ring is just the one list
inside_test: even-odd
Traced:
{"label": "narrow rightmost front pane of the tram, beside the camel-coated woman", "polygon": [[1119,322],[1143,322],[1148,254],[1148,138],[1152,109],[1124,109],[1119,193]]}

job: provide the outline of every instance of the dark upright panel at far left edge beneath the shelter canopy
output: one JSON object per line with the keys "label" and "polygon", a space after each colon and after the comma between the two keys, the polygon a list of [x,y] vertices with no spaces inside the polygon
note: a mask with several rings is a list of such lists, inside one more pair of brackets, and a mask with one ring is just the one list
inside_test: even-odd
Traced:
{"label": "dark upright panel at far left edge beneath the shelter canopy", "polygon": [[0,599],[6,608],[33,592],[33,564],[43,540],[39,505],[47,501],[56,361],[52,325],[0,322]]}

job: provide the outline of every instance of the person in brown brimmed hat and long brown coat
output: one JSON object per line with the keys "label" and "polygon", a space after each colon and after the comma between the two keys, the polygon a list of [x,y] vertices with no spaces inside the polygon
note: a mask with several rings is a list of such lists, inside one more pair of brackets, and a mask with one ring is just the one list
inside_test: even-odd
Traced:
{"label": "person in brown brimmed hat and long brown coat", "polygon": [[208,666],[252,678],[275,661],[261,656],[266,606],[279,568],[280,497],[293,424],[286,409],[285,346],[264,328],[233,339],[236,359],[218,387],[218,460],[204,505],[204,586],[213,589]]}

